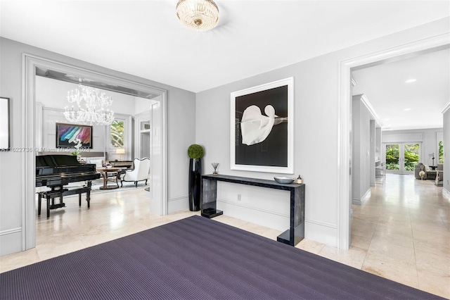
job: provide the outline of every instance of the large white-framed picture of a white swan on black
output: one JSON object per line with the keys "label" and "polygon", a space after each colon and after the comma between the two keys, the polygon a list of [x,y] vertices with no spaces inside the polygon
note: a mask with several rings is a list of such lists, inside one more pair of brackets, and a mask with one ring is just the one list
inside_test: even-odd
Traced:
{"label": "large white-framed picture of a white swan on black", "polygon": [[231,93],[231,170],[293,174],[294,78]]}

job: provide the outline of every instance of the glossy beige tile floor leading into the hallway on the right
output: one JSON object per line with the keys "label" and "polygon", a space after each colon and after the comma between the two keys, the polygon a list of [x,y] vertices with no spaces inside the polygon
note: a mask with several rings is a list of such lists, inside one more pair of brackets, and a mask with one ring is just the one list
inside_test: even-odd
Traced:
{"label": "glossy beige tile floor leading into the hallway on the right", "polygon": [[299,248],[404,285],[450,298],[450,202],[434,180],[387,174],[353,205],[351,246],[312,241]]}

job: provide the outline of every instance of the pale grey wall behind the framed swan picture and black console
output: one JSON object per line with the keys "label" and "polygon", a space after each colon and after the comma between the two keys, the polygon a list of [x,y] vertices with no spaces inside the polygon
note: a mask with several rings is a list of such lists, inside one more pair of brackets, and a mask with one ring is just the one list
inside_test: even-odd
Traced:
{"label": "pale grey wall behind the framed swan picture and black console", "polygon": [[[243,177],[273,179],[273,173],[255,173],[230,169],[230,94],[267,82],[294,77],[295,132],[294,170],[302,174],[306,184],[305,235],[308,239],[338,246],[338,95],[340,62],[420,39],[449,32],[449,18],[437,20],[420,27],[397,32],[356,46],[311,58],[253,77],[240,79],[221,87],[197,94],[196,141],[205,146],[205,173],[212,173],[210,163],[218,162],[219,173]],[[283,55],[283,50],[278,54]],[[245,68],[245,65],[243,65]],[[294,176],[295,174],[288,174]],[[236,194],[243,191],[240,185],[219,194],[223,203],[232,203]],[[251,196],[251,194],[250,194]],[[268,210],[275,210],[282,195],[264,196],[259,200],[272,201]],[[224,210],[224,214],[229,211]],[[266,213],[267,215],[268,213]],[[258,223],[265,222],[259,216]]]}

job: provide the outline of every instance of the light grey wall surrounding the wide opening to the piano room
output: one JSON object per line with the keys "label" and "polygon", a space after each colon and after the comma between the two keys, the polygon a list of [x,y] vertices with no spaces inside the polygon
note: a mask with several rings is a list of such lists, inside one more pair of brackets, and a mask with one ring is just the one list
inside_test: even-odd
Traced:
{"label": "light grey wall surrounding the wide opening to the piano room", "polygon": [[[0,38],[0,95],[11,99],[12,147],[23,146],[22,88],[25,85],[22,80],[23,53],[166,89],[169,211],[188,208],[186,149],[189,144],[195,142],[194,93]],[[0,153],[0,255],[21,251],[23,246],[21,199],[24,187],[20,180],[22,163],[21,154],[18,152]]]}

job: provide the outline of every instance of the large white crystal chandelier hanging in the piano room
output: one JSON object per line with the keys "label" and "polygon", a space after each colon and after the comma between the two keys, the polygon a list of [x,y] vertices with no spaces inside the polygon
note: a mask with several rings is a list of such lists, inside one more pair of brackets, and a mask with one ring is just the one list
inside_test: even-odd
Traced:
{"label": "large white crystal chandelier hanging in the piano room", "polygon": [[[78,108],[70,110],[65,107],[64,116],[70,123],[82,123],[90,125],[110,125],[114,120],[114,112],[107,107],[113,104],[113,100],[104,92],[94,87],[78,85],[75,92],[68,92],[69,103],[77,103]],[[80,92],[81,91],[81,92]]]}

